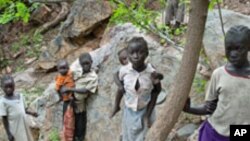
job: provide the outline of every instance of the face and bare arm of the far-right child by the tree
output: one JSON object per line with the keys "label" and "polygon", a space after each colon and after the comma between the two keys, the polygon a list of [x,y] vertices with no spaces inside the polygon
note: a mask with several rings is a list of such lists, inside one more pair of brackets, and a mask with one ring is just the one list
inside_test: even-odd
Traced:
{"label": "face and bare arm of the far-right child by the tree", "polygon": [[[248,61],[247,55],[250,46],[244,43],[245,35],[239,34],[236,36],[229,36],[225,39],[225,54],[228,60],[225,68],[233,75],[249,77],[250,75],[250,63]],[[213,101],[206,101],[204,105],[198,107],[190,106],[190,99],[184,107],[184,111],[196,114],[196,115],[208,115],[212,114],[217,107],[218,99]]]}

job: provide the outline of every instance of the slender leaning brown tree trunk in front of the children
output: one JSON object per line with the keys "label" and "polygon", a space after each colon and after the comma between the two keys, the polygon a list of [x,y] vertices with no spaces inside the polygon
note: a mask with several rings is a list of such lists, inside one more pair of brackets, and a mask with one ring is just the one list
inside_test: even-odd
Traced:
{"label": "slender leaning brown tree trunk in front of the children", "polygon": [[199,60],[208,4],[208,0],[191,0],[187,43],[181,66],[176,75],[171,95],[163,105],[165,108],[163,108],[163,111],[160,111],[156,122],[149,130],[146,141],[165,141],[182,112]]}

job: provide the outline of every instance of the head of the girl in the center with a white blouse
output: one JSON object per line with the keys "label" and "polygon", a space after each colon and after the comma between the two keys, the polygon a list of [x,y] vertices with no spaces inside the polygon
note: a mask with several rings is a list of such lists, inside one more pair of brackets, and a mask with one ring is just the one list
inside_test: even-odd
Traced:
{"label": "head of the girl in the center with a white blouse", "polygon": [[133,66],[143,65],[148,56],[148,45],[142,37],[135,37],[128,43],[128,58]]}

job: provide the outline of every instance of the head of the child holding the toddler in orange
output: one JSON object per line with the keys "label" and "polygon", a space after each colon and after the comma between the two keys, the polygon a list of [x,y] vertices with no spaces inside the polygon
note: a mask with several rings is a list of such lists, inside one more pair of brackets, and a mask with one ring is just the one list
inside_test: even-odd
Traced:
{"label": "head of the child holding the toddler in orange", "polygon": [[83,73],[90,72],[91,65],[92,65],[92,57],[90,56],[89,53],[83,53],[79,57],[79,62],[82,67]]}

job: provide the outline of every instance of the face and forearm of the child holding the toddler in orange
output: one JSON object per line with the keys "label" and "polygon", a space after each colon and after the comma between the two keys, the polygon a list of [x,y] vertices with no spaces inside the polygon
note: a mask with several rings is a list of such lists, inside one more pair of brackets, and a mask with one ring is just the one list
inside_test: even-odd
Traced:
{"label": "face and forearm of the child holding the toddler in orange", "polygon": [[[83,70],[83,74],[89,73],[91,70],[91,65],[92,65],[92,59],[90,57],[83,57],[79,59],[80,65]],[[85,88],[62,88],[62,92],[74,92],[78,94],[91,94],[91,92]]]}

